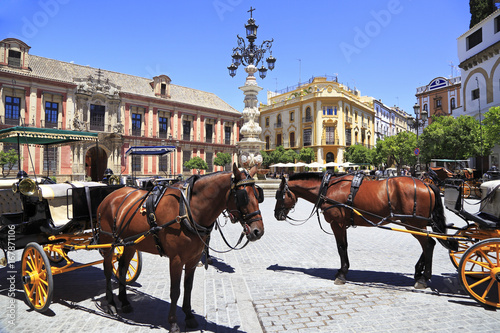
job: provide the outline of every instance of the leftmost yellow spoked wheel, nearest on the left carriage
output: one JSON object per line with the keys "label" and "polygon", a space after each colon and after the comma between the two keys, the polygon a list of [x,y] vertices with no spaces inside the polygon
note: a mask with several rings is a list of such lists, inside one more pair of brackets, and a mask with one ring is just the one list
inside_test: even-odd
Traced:
{"label": "leftmost yellow spoked wheel, nearest on the left carriage", "polygon": [[24,248],[21,279],[30,308],[37,312],[46,311],[52,302],[54,281],[49,259],[37,243],[29,243]]}

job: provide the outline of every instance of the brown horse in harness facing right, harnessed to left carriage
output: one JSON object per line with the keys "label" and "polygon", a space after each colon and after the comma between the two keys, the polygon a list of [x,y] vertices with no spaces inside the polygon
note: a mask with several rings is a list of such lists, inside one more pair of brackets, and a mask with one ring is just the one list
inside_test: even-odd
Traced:
{"label": "brown horse in harness facing right, harnessed to left carriage", "polygon": [[[259,203],[262,189],[255,185],[257,168],[241,172],[233,165],[233,172],[217,172],[193,176],[186,183],[166,187],[159,195],[130,187],[107,196],[97,210],[100,224],[99,243],[126,244],[119,260],[118,275],[126,276],[135,250],[166,255],[170,259],[170,332],[179,332],[176,307],[180,295],[181,274],[184,273],[184,300],[182,310],[186,326],[198,323],[191,311],[191,290],[196,266],[200,260],[214,221],[227,209],[238,220],[250,241],[264,234]],[[190,193],[189,194],[189,190]],[[188,193],[188,194],[185,194]],[[152,197],[152,199],[147,199]],[[156,205],[153,205],[156,202]],[[148,208],[149,207],[149,208]],[[151,207],[156,207],[154,210]],[[145,238],[142,240],[142,236]],[[111,250],[104,251],[106,300],[108,312],[116,313],[111,275]],[[123,312],[132,307],[127,300],[124,281],[119,279],[119,296]]]}

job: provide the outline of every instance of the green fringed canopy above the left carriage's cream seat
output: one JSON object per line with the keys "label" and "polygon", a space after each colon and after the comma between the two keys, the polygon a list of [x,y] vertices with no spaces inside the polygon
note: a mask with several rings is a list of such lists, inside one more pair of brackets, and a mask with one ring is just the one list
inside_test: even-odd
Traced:
{"label": "green fringed canopy above the left carriage's cream seat", "polygon": [[96,141],[97,133],[16,126],[0,130],[0,142],[30,145],[60,145],[75,141]]}

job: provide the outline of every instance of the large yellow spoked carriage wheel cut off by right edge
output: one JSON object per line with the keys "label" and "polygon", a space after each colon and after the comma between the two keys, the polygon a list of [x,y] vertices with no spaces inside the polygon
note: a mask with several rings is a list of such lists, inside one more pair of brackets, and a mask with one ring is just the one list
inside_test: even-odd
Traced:
{"label": "large yellow spoked carriage wheel cut off by right edge", "polygon": [[482,304],[500,308],[500,238],[472,245],[458,267],[460,284]]}

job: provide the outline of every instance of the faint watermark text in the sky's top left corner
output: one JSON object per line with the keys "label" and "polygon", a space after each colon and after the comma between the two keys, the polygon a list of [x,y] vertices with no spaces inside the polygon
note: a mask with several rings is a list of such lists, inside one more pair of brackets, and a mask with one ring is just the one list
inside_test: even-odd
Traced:
{"label": "faint watermark text in the sky's top left corner", "polygon": [[62,5],[66,5],[71,0],[40,0],[37,2],[39,10],[29,17],[21,18],[22,27],[20,35],[10,33],[10,36],[20,40],[32,39],[41,29],[49,24],[50,19],[54,18],[61,9]]}

